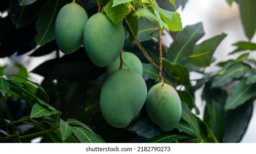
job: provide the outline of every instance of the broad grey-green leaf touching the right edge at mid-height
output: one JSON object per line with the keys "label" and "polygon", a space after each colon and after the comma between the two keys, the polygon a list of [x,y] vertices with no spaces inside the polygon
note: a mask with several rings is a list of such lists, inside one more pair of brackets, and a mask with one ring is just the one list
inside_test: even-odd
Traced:
{"label": "broad grey-green leaf touching the right edge at mid-height", "polygon": [[250,100],[250,98],[256,96],[254,89],[255,85],[247,85],[246,81],[247,79],[243,78],[239,83],[233,86],[224,106],[226,111],[229,109],[235,109]]}

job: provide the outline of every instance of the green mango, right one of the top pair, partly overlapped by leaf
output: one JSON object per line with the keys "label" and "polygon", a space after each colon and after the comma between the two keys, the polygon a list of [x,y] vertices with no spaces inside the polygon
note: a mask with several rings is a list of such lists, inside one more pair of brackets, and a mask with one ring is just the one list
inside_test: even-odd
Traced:
{"label": "green mango, right one of the top pair, partly overlapped by leaf", "polygon": [[123,25],[114,25],[105,13],[93,14],[85,24],[83,43],[91,61],[98,67],[106,67],[115,61],[122,51]]}

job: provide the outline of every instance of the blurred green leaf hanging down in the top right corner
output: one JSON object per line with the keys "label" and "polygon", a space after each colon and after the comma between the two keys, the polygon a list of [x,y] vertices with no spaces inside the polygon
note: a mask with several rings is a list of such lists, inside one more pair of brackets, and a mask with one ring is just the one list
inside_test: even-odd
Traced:
{"label": "blurred green leaf hanging down in the top right corner", "polygon": [[256,30],[256,1],[247,0],[239,1],[240,16],[245,31],[245,35],[249,40],[252,39]]}

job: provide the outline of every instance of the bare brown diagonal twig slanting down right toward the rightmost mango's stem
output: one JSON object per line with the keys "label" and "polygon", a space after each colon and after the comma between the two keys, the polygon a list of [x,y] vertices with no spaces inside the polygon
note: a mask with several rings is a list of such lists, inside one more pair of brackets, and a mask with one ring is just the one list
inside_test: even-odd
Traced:
{"label": "bare brown diagonal twig slanting down right toward the rightmost mango's stem", "polygon": [[[160,68],[158,67],[158,65],[155,64],[155,62],[151,59],[151,57],[149,57],[147,51],[145,51],[144,47],[142,46],[142,44],[140,44],[138,38],[135,36],[133,30],[132,30],[132,27],[130,26],[127,18],[124,18],[124,22],[126,23],[127,27],[128,27],[128,30],[130,32],[130,34],[132,34],[133,36],[133,39],[136,43],[136,45],[139,47],[140,51],[142,51],[142,53],[144,54],[144,56],[148,59],[148,61],[154,65],[156,68],[158,68],[160,70]],[[160,70],[161,72],[163,72],[162,70]]]}

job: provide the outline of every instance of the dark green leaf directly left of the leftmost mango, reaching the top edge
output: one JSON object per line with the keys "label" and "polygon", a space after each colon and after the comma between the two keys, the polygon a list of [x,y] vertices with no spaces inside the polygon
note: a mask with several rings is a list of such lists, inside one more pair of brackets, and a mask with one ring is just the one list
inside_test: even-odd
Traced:
{"label": "dark green leaf directly left of the leftmost mango, reaching the top edge", "polygon": [[61,0],[47,1],[43,9],[38,14],[36,21],[36,30],[38,35],[35,36],[35,42],[43,46],[45,43],[55,39],[54,26],[59,10],[65,5]]}

